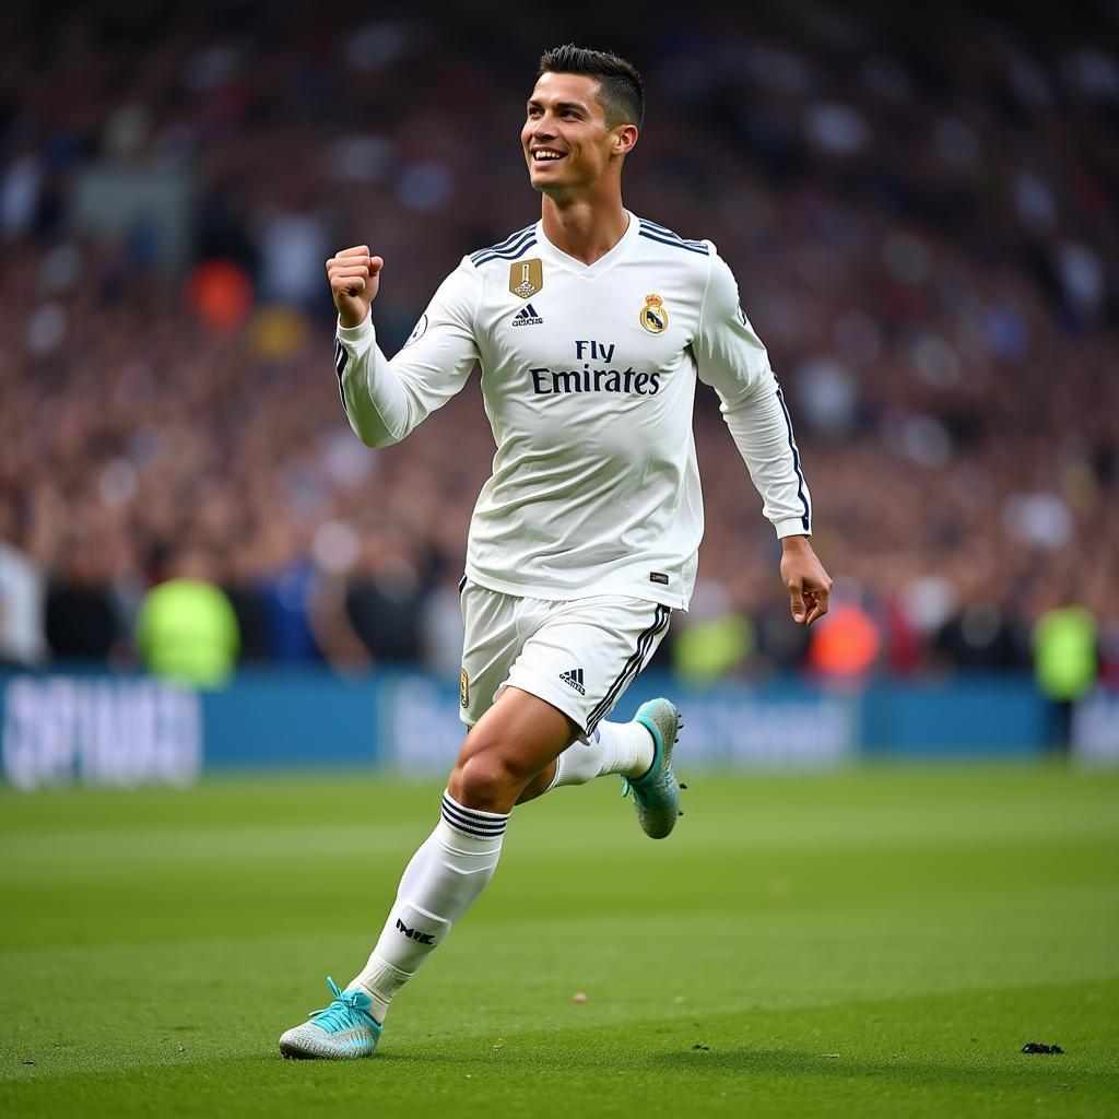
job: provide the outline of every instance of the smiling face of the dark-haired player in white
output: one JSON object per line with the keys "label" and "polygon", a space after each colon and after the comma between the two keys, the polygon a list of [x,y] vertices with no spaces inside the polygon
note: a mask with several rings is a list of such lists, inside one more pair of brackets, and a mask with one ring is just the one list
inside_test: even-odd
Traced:
{"label": "smiling face of the dark-haired player in white", "polygon": [[540,75],[520,130],[528,178],[537,190],[579,191],[609,166],[615,134],[598,94],[599,83],[585,74]]}

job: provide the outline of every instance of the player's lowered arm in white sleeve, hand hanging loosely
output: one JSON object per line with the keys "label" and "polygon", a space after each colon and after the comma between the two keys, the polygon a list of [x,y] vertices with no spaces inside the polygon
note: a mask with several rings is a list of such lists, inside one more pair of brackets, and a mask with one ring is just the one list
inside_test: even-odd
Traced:
{"label": "player's lowered arm in white sleeve, hand hanging loosely", "polygon": [[699,379],[718,393],[723,420],[762,496],[762,513],[781,539],[781,579],[792,617],[811,624],[827,613],[831,580],[809,543],[808,482],[769,355],[739,304],[731,270],[715,253],[692,348]]}

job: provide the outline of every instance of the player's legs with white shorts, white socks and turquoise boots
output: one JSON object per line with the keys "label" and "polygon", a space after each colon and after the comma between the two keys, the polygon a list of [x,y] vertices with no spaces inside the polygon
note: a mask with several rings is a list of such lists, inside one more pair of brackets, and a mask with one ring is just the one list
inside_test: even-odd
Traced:
{"label": "player's legs with white shorts, white socks and turquoise boots", "polygon": [[[477,723],[448,782],[442,819],[408,864],[368,965],[345,993],[335,989],[339,997],[326,1012],[284,1034],[288,1055],[374,1051],[396,991],[492,876],[515,803],[557,783],[620,772],[630,777],[647,835],[666,836],[676,822],[675,706],[657,699],[639,709],[640,725],[599,724],[655,651],[668,626],[666,606],[629,599],[545,603],[467,584],[463,615],[461,699],[464,720]],[[493,689],[499,696],[490,706]],[[591,743],[571,746],[583,727],[592,731]],[[352,1026],[360,1046],[345,1050],[323,1038],[323,1022],[342,1035]]]}

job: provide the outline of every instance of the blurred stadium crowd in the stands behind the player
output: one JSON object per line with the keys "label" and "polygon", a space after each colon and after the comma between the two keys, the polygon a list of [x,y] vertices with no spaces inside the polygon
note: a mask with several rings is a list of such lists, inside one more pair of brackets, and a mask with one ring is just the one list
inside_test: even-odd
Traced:
{"label": "blurred stadium crowd in the stands behind the player", "polygon": [[[457,675],[477,383],[364,448],[322,263],[384,255],[393,351],[463,253],[538,215],[524,100],[576,37],[645,73],[629,207],[739,278],[861,668],[1025,666],[1079,604],[1119,675],[1113,10],[774,0],[623,35],[438,13],[0,13],[0,661],[133,664],[178,576],[225,591],[243,661]],[[696,438],[707,530],[665,656],[826,669],[703,386]]]}

